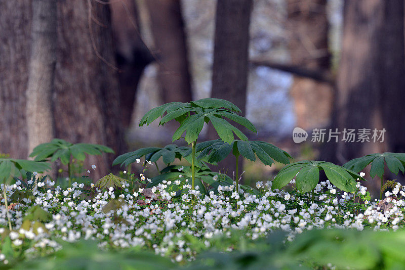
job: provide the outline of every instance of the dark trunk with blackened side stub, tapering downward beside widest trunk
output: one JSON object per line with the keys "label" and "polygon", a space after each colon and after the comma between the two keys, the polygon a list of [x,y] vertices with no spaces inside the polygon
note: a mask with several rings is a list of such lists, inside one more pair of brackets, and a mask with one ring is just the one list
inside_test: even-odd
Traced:
{"label": "dark trunk with blackened side stub, tapering downward beside widest trunk", "polygon": [[134,110],[138,83],[153,56],[141,38],[140,21],[135,0],[111,3],[111,22],[115,43],[115,59],[119,68],[123,126],[128,128]]}

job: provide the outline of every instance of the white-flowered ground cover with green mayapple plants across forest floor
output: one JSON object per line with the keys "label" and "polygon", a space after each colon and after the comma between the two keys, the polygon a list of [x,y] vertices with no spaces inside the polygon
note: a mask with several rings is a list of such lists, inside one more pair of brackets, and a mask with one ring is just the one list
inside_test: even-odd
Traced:
{"label": "white-flowered ground cover with green mayapple plants across forest floor", "polygon": [[[87,155],[108,147],[55,139],[37,146],[34,160],[0,158],[0,268],[8,269],[396,269],[405,265],[405,187],[381,181],[384,200],[363,186],[383,179],[384,166],[404,171],[405,154],[373,154],[338,166],[293,162],[286,151],[249,141],[240,110],[220,99],[172,102],[150,110],[140,126],[160,117],[180,126],[173,143],[118,156],[110,173],[91,179]],[[229,120],[229,121],[228,121]],[[231,121],[231,122],[230,122]],[[219,139],[199,142],[204,123]],[[183,137],[183,133],[185,136]],[[238,139],[234,138],[234,135]],[[198,141],[198,143],[197,143]],[[228,155],[285,164],[255,187],[212,171]],[[66,178],[47,175],[59,160]],[[165,164],[157,167],[157,161]],[[188,165],[179,165],[185,160]],[[134,163],[143,171],[131,171]],[[151,167],[157,174],[153,175]],[[236,166],[237,168],[238,166]],[[319,172],[327,179],[320,181]],[[95,181],[94,181],[95,180]],[[93,182],[94,181],[94,182]],[[382,199],[382,198],[380,198]]]}

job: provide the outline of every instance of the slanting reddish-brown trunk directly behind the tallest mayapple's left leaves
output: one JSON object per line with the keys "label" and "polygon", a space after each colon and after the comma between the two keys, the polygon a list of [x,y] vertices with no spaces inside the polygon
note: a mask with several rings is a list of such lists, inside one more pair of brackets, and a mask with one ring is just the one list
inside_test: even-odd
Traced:
{"label": "slanting reddish-brown trunk directly behind the tallest mayapple's left leaves", "polygon": [[163,103],[192,100],[180,0],[147,0]]}

